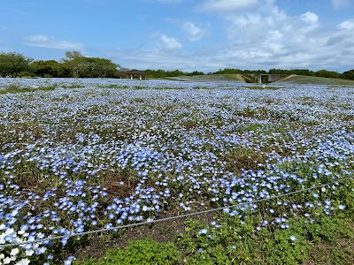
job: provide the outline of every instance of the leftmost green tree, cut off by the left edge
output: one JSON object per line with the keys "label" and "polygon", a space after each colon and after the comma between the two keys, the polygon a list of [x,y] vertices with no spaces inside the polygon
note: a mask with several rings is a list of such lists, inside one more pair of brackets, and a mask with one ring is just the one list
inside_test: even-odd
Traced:
{"label": "leftmost green tree, cut off by the left edge", "polygon": [[33,59],[16,52],[0,53],[0,76],[17,77],[19,72],[27,71]]}

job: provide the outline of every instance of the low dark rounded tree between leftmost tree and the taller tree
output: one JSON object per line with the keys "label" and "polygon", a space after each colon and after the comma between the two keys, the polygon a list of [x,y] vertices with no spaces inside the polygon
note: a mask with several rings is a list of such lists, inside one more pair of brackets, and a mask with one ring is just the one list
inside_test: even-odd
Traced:
{"label": "low dark rounded tree between leftmost tree and the taller tree", "polygon": [[71,70],[65,64],[60,64],[55,60],[35,61],[30,64],[30,70],[36,76],[63,78],[70,77]]}

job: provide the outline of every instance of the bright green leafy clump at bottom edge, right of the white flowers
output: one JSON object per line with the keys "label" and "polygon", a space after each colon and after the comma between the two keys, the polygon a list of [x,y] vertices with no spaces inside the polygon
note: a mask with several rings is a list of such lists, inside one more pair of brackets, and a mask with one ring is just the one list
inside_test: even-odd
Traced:
{"label": "bright green leafy clump at bottom edge, right of the white flowers", "polygon": [[152,239],[129,242],[122,250],[115,248],[104,254],[98,261],[89,260],[82,265],[130,265],[130,264],[180,264],[181,254],[173,243],[158,243]]}

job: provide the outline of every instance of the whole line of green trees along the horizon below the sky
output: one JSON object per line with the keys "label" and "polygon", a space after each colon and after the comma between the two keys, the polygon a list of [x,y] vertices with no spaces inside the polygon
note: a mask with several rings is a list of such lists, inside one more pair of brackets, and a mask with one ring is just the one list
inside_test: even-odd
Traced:
{"label": "whole line of green trees along the horizon below the sky", "polygon": [[[125,78],[127,69],[120,68],[110,59],[100,57],[84,57],[79,51],[66,51],[60,61],[39,60],[25,57],[17,52],[0,52],[0,77],[53,77],[53,78]],[[204,75],[204,72],[182,72],[180,70],[145,70],[148,78],[167,78],[176,76]],[[346,72],[319,70],[313,72],[308,69],[271,69],[241,70],[225,68],[208,74],[297,74],[333,79],[354,80],[354,69]]]}

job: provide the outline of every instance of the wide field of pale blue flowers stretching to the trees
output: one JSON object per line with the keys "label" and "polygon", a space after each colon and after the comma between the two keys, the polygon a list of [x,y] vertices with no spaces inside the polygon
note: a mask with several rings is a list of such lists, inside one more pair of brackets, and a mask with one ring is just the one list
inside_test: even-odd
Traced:
{"label": "wide field of pale blue flowers stretching to the trees", "polygon": [[77,234],[162,214],[242,203],[224,214],[257,233],[352,213],[354,87],[245,86],[0,79],[0,264],[70,264]]}

